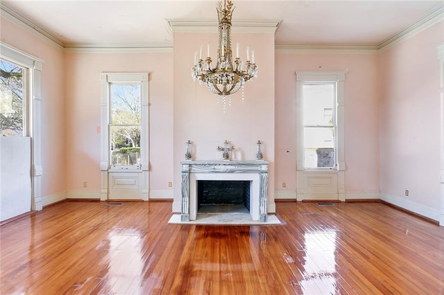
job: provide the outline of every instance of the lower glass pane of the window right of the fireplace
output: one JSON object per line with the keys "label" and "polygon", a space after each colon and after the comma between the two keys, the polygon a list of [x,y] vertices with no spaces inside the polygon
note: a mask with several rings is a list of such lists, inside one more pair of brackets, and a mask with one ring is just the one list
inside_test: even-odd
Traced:
{"label": "lower glass pane of the window right of the fireplace", "polygon": [[304,128],[305,168],[334,167],[333,127]]}

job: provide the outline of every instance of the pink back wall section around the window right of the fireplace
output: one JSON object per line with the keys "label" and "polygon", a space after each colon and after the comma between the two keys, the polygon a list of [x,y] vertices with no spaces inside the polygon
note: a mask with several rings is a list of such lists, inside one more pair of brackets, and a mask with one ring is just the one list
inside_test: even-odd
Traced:
{"label": "pink back wall section around the window right of the fireplace", "polygon": [[[345,192],[377,197],[379,137],[377,55],[275,55],[276,190],[296,194],[296,71],[345,75]],[[321,67],[321,68],[320,68]],[[290,153],[286,153],[289,150]],[[282,188],[282,182],[287,188]]]}

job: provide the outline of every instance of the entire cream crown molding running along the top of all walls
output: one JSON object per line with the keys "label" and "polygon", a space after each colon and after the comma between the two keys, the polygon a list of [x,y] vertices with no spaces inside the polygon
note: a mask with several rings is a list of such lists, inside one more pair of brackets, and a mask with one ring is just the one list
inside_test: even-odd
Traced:
{"label": "entire cream crown molding running along the top of all walls", "polygon": [[[31,20],[19,15],[0,1],[1,17],[24,28],[29,33],[68,53],[172,53],[173,44],[83,44],[64,43]],[[422,30],[444,19],[444,4],[429,12],[411,26],[377,45],[275,45],[277,54],[377,54],[386,51]],[[167,19],[173,33],[216,33],[219,22],[214,19]],[[237,20],[232,21],[233,33],[275,33],[282,20]]]}

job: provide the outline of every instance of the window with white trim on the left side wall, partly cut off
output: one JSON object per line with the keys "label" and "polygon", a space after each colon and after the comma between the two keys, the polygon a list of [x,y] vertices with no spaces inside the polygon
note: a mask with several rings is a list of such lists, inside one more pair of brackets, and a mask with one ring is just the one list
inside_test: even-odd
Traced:
{"label": "window with white trim on the left side wall, partly cut off", "polygon": [[42,210],[43,60],[0,42],[0,136],[31,137],[31,209]]}

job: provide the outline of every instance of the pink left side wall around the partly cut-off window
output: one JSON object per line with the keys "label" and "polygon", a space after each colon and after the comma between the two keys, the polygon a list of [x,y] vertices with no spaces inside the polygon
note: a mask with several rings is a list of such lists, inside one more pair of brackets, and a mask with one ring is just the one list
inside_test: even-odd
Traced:
{"label": "pink left side wall around the partly cut-off window", "polygon": [[65,173],[65,83],[63,51],[1,17],[1,42],[44,61],[42,69],[42,196],[63,193]]}

